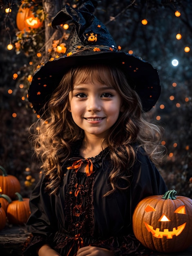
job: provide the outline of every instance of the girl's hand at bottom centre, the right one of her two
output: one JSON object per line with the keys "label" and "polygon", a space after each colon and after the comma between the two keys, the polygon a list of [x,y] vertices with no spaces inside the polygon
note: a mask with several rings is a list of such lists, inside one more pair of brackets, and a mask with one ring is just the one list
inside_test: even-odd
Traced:
{"label": "girl's hand at bottom centre, the right one of her two", "polygon": [[94,246],[85,246],[78,250],[77,256],[114,256],[113,252],[110,252],[107,249],[94,247]]}

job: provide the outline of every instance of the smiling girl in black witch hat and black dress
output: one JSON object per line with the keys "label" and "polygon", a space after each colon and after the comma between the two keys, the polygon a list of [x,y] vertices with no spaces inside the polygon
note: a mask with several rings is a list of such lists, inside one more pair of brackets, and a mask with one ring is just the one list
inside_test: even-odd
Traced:
{"label": "smiling girl in black witch hat and black dress", "polygon": [[[91,8],[87,1],[57,14],[53,25],[75,19],[71,54],[45,63],[29,88],[29,101],[42,115],[33,145],[43,173],[31,194],[33,237],[25,255],[146,253],[133,235],[132,213],[144,197],[167,190],[154,166],[163,153],[161,132],[142,117],[159,97],[158,74],[117,52]],[[94,43],[89,34],[97,35]]]}

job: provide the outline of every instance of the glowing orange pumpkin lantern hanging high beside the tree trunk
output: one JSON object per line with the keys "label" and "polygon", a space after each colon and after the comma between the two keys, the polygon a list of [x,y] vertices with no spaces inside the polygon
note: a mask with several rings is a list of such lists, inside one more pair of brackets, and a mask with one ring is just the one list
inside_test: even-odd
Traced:
{"label": "glowing orange pumpkin lantern hanging high beside the tree trunk", "polygon": [[42,27],[43,20],[35,16],[33,6],[27,7],[27,3],[22,1],[16,16],[16,24],[20,31],[24,29],[29,31],[31,28],[37,29]]}

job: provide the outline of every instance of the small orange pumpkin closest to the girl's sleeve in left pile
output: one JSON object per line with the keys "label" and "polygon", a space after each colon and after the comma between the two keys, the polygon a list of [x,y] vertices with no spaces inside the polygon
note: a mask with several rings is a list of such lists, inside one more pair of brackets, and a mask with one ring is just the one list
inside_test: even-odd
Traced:
{"label": "small orange pumpkin closest to the girl's sleeve in left pile", "polygon": [[24,225],[29,216],[29,198],[22,198],[20,193],[16,193],[18,200],[12,201],[7,207],[7,219],[11,224]]}

